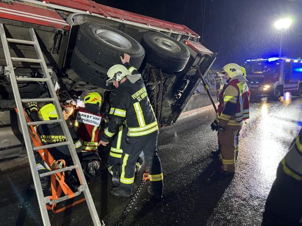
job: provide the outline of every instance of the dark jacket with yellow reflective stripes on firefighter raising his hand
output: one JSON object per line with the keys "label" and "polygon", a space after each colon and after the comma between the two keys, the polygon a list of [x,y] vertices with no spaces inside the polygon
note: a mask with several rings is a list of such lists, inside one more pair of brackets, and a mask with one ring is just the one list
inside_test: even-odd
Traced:
{"label": "dark jacket with yellow reflective stripes on firefighter raising his hand", "polygon": [[[138,74],[129,64],[126,63],[125,67],[131,74]],[[124,120],[128,127],[127,136],[145,136],[158,132],[156,117],[142,78],[134,84],[126,80],[114,92],[115,98],[110,109],[112,116],[101,140],[110,140],[119,132]]]}

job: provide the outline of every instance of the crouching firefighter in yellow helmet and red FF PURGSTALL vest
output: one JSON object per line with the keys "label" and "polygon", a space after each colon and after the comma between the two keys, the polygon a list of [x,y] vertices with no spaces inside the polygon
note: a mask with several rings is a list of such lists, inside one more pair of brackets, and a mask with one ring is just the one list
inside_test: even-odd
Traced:
{"label": "crouching firefighter in yellow helmet and red FF PURGSTALL vest", "polygon": [[101,167],[98,153],[98,135],[102,116],[100,114],[102,98],[98,92],[90,92],[84,97],[85,108],[74,112],[74,130],[78,135],[76,147],[82,146],[80,161],[85,176],[94,180]]}

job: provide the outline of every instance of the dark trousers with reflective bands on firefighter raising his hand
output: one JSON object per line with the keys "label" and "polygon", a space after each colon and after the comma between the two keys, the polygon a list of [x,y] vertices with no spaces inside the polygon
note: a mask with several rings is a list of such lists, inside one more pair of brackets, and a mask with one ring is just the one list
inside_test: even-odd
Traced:
{"label": "dark trousers with reflective bands on firefighter raising his hand", "polygon": [[151,186],[159,191],[163,189],[163,173],[161,162],[157,155],[157,134],[153,132],[145,136],[127,136],[122,155],[121,179],[119,187],[127,192],[132,191],[135,164],[143,151],[146,165],[149,169]]}

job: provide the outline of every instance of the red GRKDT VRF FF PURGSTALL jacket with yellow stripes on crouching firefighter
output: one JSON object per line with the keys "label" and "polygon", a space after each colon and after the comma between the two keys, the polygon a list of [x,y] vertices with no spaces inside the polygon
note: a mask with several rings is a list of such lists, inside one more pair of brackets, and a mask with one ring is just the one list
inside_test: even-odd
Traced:
{"label": "red GRKDT VRF FF PURGSTALL jacket with yellow stripes on crouching firefighter", "polygon": [[74,121],[74,130],[76,131],[79,140],[75,144],[82,146],[82,151],[98,150],[98,135],[101,125],[101,114],[95,114],[87,111],[84,108],[76,109]]}

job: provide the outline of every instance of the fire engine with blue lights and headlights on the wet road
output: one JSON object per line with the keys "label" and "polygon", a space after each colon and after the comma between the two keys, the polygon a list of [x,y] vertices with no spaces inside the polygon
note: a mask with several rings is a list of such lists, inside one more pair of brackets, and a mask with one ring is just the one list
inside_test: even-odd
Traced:
{"label": "fire engine with blue lights and headlights on the wet road", "polygon": [[302,94],[302,59],[271,57],[247,60],[248,86],[252,96],[279,98],[286,92]]}

